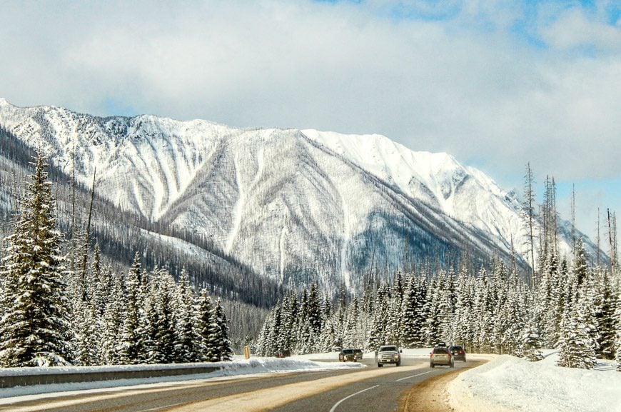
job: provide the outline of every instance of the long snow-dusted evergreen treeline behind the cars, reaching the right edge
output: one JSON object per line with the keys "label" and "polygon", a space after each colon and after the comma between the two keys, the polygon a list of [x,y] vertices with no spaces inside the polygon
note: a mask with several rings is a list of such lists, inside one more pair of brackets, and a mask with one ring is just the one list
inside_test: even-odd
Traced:
{"label": "long snow-dusted evergreen treeline behind the cars, reaching the right edge", "polygon": [[[560,348],[560,365],[592,368],[596,358],[621,364],[620,276],[594,267],[578,239],[572,261],[550,251],[539,281],[530,286],[502,261],[493,268],[397,273],[392,284],[369,283],[338,302],[316,285],[290,293],[271,311],[256,343],[270,355],[331,351],[336,346],[376,350],[440,341],[480,353],[510,353],[532,360],[540,348]],[[620,366],[621,368],[621,366]]]}

